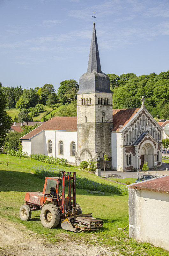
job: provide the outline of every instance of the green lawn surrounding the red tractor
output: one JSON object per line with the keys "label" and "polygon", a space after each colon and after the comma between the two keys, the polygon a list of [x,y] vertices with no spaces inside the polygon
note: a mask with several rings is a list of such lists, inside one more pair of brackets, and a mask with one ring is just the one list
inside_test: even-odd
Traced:
{"label": "green lawn surrounding the red tractor", "polygon": [[[77,189],[76,201],[82,207],[83,213],[93,213],[93,217],[100,218],[104,221],[103,228],[96,232],[73,233],[65,231],[59,226],[55,229],[47,229],[41,225],[40,211],[32,212],[30,221],[21,221],[19,218],[19,208],[24,203],[26,191],[42,191],[44,180],[33,175],[30,169],[33,166],[51,166],[54,165],[21,159],[19,157],[9,156],[9,166],[6,164],[7,156],[0,154],[0,216],[6,219],[22,223],[27,229],[36,232],[37,234],[45,234],[46,239],[50,242],[57,242],[58,233],[69,234],[70,239],[79,239],[82,237],[87,243],[97,243],[102,246],[114,246],[119,255],[156,255],[169,256],[169,253],[161,248],[156,248],[148,243],[138,243],[134,239],[128,238],[118,228],[125,228],[128,225],[128,196],[114,195],[110,193],[91,194],[84,189]],[[104,180],[94,174],[78,170],[77,166],[61,167],[65,170],[76,171],[81,177],[86,177],[90,180],[114,185],[109,180]],[[120,184],[117,184],[117,186]],[[123,185],[125,186],[125,185]],[[128,233],[128,228],[125,229]],[[49,235],[50,234],[50,235]],[[54,236],[56,235],[56,236]],[[91,239],[94,235],[95,239]],[[78,238],[79,237],[79,238]]]}

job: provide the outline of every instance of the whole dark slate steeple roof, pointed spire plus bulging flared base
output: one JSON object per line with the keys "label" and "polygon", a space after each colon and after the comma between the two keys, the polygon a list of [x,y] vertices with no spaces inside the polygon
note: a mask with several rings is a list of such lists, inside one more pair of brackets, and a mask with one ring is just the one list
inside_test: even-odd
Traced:
{"label": "whole dark slate steeple roof, pointed spire plus bulging flared base", "polygon": [[112,93],[110,91],[110,79],[105,73],[101,71],[95,22],[93,23],[88,68],[87,72],[83,74],[79,79],[79,91],[77,94],[93,92]]}

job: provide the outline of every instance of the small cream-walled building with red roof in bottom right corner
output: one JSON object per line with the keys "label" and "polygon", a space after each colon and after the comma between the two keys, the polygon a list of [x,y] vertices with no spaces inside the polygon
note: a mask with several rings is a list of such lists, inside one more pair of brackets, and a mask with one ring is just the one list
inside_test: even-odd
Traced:
{"label": "small cream-walled building with red roof in bottom right corner", "polygon": [[169,176],[128,187],[129,237],[169,251]]}

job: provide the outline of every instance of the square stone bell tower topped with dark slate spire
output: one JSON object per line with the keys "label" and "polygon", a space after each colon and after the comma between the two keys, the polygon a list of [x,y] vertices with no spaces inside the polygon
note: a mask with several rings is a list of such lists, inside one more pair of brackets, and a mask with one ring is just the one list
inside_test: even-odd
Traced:
{"label": "square stone bell tower topped with dark slate spire", "polygon": [[79,79],[77,92],[77,165],[94,160],[104,168],[104,153],[111,168],[111,128],[113,127],[112,92],[109,77],[101,71],[95,22],[87,72]]}

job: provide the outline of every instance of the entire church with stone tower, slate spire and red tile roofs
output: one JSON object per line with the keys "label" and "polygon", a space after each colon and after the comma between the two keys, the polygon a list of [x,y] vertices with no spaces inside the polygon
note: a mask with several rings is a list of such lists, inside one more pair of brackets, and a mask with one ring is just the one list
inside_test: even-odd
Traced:
{"label": "entire church with stone tower, slate spire and red tile roofs", "polygon": [[23,151],[62,157],[79,165],[94,160],[97,168],[127,172],[162,164],[163,129],[144,106],[113,109],[109,77],[102,72],[93,23],[87,72],[79,79],[77,117],[53,117],[20,138]]}

